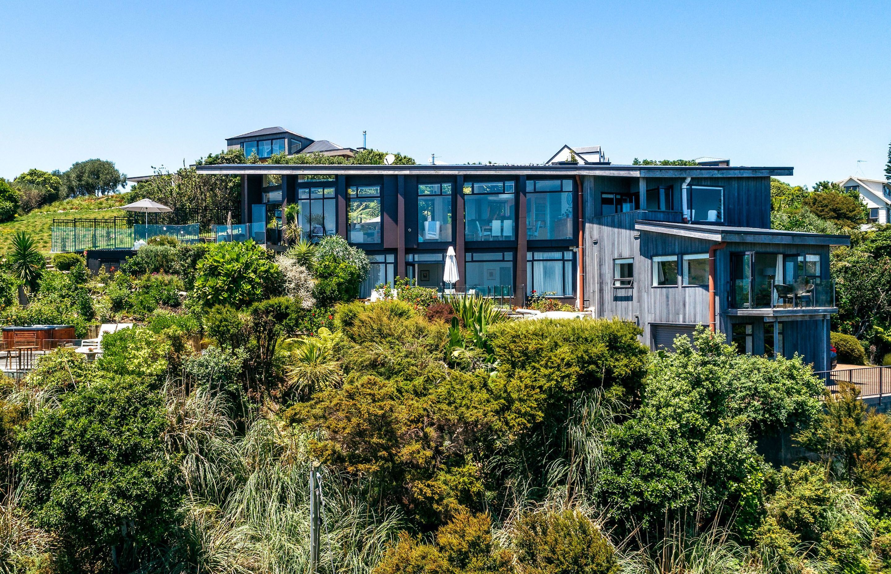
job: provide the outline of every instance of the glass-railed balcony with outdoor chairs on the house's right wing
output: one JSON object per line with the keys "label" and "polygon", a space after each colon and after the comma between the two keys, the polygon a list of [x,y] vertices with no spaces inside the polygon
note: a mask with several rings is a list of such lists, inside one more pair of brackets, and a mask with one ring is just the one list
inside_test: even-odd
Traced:
{"label": "glass-railed balcony with outdoor chairs on the house's right wing", "polygon": [[793,282],[738,279],[729,289],[731,315],[808,315],[836,312],[835,282],[799,277]]}

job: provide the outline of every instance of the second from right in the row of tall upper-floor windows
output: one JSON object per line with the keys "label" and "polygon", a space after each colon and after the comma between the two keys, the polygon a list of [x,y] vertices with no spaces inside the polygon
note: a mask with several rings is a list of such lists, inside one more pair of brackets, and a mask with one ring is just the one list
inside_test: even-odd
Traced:
{"label": "second from right in the row of tall upper-floor windows", "polygon": [[513,203],[512,181],[464,184],[464,239],[469,242],[514,239]]}

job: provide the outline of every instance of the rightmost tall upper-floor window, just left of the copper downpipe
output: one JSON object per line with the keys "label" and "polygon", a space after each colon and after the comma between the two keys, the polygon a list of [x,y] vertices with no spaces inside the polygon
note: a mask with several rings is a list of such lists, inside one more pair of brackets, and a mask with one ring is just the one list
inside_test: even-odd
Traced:
{"label": "rightmost tall upper-floor window, just left of the copper downpipe", "polygon": [[526,182],[526,238],[572,239],[572,180]]}

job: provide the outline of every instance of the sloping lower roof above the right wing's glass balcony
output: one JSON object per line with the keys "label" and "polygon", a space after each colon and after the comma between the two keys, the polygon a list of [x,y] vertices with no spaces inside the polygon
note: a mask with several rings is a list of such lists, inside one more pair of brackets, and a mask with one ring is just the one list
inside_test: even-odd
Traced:
{"label": "sloping lower roof above the right wing's glass balcony", "polygon": [[797,245],[850,245],[847,235],[805,234],[798,231],[781,229],[762,229],[759,227],[722,227],[720,225],[695,225],[670,223],[663,221],[638,221],[634,224],[637,231],[648,231],[654,234],[680,235],[704,239],[710,242],[733,243],[795,243]]}

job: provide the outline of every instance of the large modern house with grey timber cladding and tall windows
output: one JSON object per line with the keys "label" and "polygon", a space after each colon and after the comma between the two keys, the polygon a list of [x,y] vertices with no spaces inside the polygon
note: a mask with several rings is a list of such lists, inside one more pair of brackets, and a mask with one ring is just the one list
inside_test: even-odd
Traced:
{"label": "large modern house with grey timber cladding and tall windows", "polygon": [[770,228],[770,178],[792,168],[612,165],[589,149],[565,146],[544,165],[197,169],[241,176],[241,238],[283,249],[282,202],[296,202],[307,239],[339,234],[365,250],[365,296],[395,276],[444,287],[454,247],[458,291],[563,299],[634,321],[651,348],[708,325],[741,352],[829,368],[830,246],[849,240]]}

